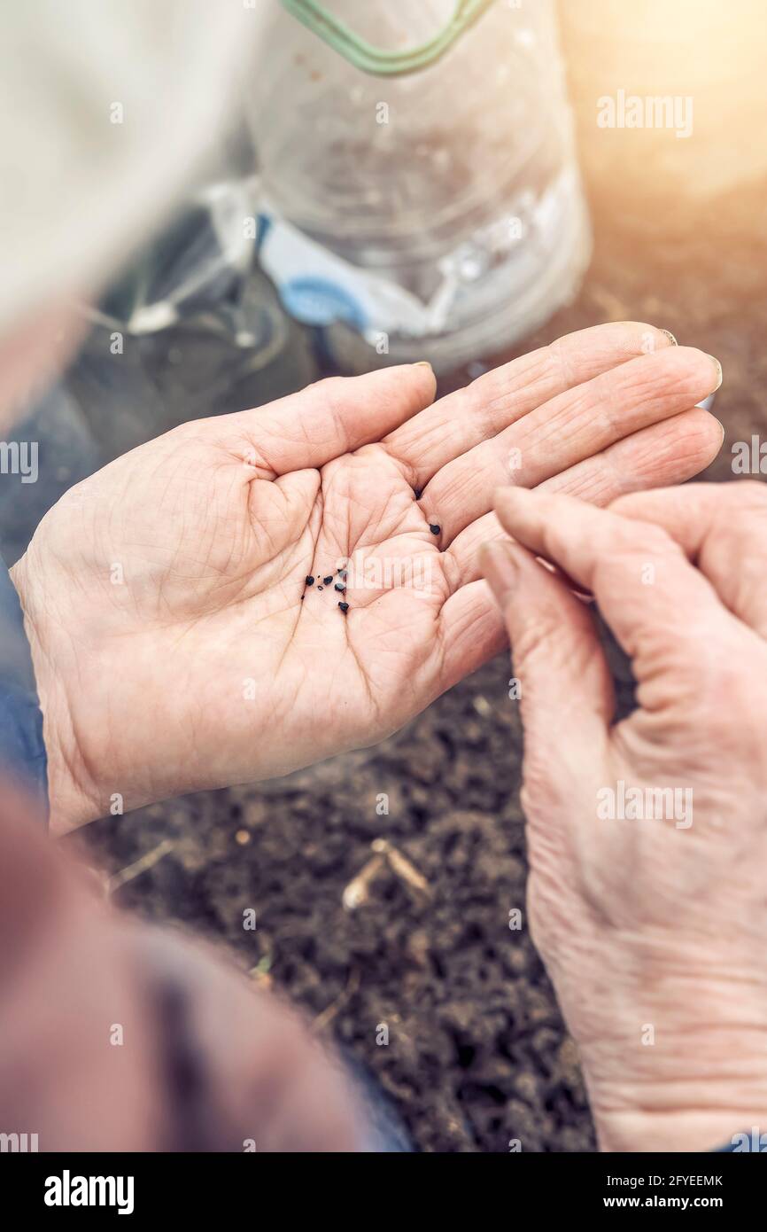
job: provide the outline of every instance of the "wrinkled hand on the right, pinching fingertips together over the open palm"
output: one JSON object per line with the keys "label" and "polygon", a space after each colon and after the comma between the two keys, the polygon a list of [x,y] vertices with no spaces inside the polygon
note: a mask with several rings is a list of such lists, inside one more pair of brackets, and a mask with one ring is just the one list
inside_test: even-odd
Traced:
{"label": "wrinkled hand on the right, pinching fingertips together over the open palm", "polygon": [[[600,1142],[767,1132],[767,487],[609,510],[510,489],[496,509],[516,543],[483,562],[521,685],[531,928]],[[630,655],[624,721],[591,611],[536,554]]]}

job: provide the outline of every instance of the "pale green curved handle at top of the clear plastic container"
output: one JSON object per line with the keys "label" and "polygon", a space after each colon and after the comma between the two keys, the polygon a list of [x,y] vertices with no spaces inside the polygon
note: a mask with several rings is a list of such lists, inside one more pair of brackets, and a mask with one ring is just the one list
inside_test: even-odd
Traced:
{"label": "pale green curved handle at top of the clear plastic container", "polygon": [[282,0],[288,12],[313,33],[319,34],[334,51],[363,73],[372,73],[375,76],[416,73],[433,64],[491,4],[495,4],[495,0],[457,0],[456,12],[447,26],[427,43],[421,43],[420,47],[408,52],[388,52],[359,38],[353,30],[327,12],[320,0]]}

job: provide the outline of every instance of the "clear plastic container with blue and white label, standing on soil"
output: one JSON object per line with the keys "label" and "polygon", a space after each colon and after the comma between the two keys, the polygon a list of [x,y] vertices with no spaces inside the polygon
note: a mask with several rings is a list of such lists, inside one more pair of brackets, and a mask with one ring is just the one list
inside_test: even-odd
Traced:
{"label": "clear plastic container with blue and white label, standing on soil", "polygon": [[[361,71],[273,5],[252,65],[261,261],[345,370],[508,346],[575,294],[591,233],[552,0],[495,0],[436,63]],[[325,0],[379,48],[456,0]]]}

